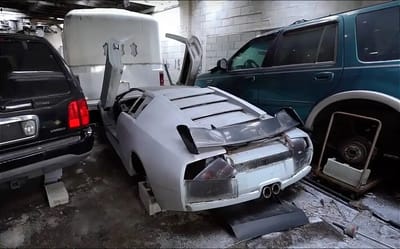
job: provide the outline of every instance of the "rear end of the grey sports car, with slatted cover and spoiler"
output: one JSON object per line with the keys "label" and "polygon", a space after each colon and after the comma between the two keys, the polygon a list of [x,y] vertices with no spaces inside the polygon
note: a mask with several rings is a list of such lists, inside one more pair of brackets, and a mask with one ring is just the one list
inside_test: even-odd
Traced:
{"label": "rear end of the grey sports car, with slatted cover and spoiler", "polygon": [[193,121],[177,127],[190,153],[198,158],[224,151],[187,164],[181,191],[186,210],[270,198],[310,172],[312,143],[296,128],[294,112],[272,117],[215,88],[169,97]]}

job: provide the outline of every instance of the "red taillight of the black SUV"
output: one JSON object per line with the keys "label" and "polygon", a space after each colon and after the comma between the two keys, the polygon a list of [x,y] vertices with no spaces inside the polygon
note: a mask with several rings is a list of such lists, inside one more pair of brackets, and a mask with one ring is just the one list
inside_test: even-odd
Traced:
{"label": "red taillight of the black SUV", "polygon": [[68,127],[79,128],[89,124],[89,109],[85,99],[74,100],[68,104]]}

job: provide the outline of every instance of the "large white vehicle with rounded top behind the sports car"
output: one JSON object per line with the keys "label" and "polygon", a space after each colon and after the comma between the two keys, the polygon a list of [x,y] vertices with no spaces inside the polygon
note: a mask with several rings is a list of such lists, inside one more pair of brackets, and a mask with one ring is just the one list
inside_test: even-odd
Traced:
{"label": "large white vehicle with rounded top behind the sports car", "polygon": [[77,9],[65,16],[63,52],[91,110],[97,108],[103,83],[105,50],[110,39],[123,45],[123,74],[118,92],[164,84],[157,21],[123,9]]}

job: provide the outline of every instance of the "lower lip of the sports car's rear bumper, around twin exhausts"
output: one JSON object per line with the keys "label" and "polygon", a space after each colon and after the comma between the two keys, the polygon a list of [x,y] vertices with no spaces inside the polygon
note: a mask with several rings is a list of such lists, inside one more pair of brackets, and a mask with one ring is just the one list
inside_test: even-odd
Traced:
{"label": "lower lip of the sports car's rear bumper, around twin exhausts", "polygon": [[301,180],[311,171],[311,166],[303,167],[299,172],[294,174],[292,177],[281,180],[281,179],[271,179],[270,181],[264,182],[259,188],[255,191],[242,193],[236,198],[232,199],[223,199],[223,200],[216,200],[216,201],[208,201],[208,202],[197,202],[197,203],[188,203],[186,204],[187,211],[201,211],[206,209],[213,209],[213,208],[220,208],[230,205],[239,204],[246,201],[251,201],[254,199],[258,199],[261,196],[262,188],[266,185],[279,182],[281,185],[281,189],[285,189],[286,187],[292,185],[293,183]]}

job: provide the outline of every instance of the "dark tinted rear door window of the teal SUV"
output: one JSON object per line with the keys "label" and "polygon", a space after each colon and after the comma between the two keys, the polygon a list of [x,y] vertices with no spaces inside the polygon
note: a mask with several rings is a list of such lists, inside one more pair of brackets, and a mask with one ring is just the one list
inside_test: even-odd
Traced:
{"label": "dark tinted rear door window of the teal SUV", "polygon": [[336,37],[336,23],[285,32],[278,43],[273,65],[335,61]]}

